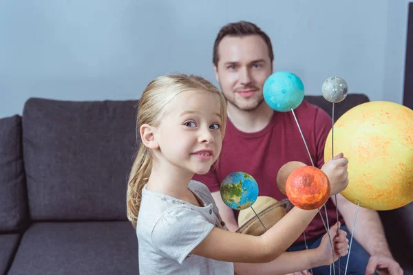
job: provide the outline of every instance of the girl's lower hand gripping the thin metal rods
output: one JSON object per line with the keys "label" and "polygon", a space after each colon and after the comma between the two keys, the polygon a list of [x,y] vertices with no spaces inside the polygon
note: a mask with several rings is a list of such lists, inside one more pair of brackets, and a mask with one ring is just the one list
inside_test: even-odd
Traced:
{"label": "girl's lower hand gripping the thin metal rods", "polygon": [[[338,223],[338,225],[340,226],[340,223]],[[348,254],[348,249],[350,248],[348,245],[347,232],[339,230],[339,234],[337,234],[337,223],[330,228],[329,232],[334,253],[331,252],[331,244],[328,240],[328,234],[326,233],[324,234],[323,239],[321,239],[319,247],[316,248],[317,253],[319,254],[319,265],[332,264],[333,261],[339,259],[339,256],[346,256]],[[334,260],[332,260],[333,254]]]}

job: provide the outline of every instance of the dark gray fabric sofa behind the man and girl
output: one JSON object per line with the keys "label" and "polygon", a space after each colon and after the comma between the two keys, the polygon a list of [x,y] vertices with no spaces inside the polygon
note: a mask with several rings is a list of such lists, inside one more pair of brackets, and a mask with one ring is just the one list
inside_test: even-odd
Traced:
{"label": "dark gray fabric sofa behind the man and girl", "polygon": [[[331,112],[321,96],[306,100]],[[366,101],[349,95],[336,118]],[[0,120],[0,274],[139,274],[125,210],[135,119],[131,100],[30,98],[23,115]],[[412,216],[412,203],[381,212],[406,271],[413,270]]]}

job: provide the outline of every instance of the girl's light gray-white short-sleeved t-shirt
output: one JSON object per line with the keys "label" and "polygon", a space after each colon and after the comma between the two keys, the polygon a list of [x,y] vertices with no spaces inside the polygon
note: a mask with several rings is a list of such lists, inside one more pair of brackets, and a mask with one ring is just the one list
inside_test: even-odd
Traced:
{"label": "girl's light gray-white short-sleeved t-shirt", "polygon": [[233,263],[191,254],[214,226],[226,226],[208,187],[191,181],[188,188],[204,207],[143,188],[136,225],[140,274],[234,274]]}

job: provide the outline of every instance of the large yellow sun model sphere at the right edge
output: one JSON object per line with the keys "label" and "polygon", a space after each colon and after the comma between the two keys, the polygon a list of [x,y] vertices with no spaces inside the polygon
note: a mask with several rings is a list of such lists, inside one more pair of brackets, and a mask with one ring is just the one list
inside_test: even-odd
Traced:
{"label": "large yellow sun model sphere at the right edge", "polygon": [[[328,134],[324,160],[332,158]],[[413,201],[413,111],[373,101],[344,113],[334,124],[334,154],[348,158],[348,187],[341,192],[372,210],[392,210]]]}

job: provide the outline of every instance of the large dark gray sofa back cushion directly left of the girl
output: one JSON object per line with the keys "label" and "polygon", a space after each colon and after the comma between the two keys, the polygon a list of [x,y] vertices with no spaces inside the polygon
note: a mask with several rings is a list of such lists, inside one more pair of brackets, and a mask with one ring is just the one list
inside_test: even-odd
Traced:
{"label": "large dark gray sofa back cushion directly left of the girl", "polygon": [[23,155],[33,220],[126,220],[136,102],[30,98]]}

